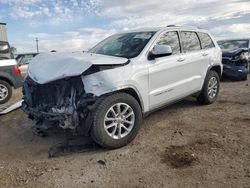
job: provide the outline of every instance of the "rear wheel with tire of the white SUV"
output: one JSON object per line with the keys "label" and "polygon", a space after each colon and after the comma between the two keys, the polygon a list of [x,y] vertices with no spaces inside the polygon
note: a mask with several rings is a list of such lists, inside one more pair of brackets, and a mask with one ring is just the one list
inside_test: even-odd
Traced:
{"label": "rear wheel with tire of the white SUV", "polygon": [[[215,85],[215,81],[216,81],[216,85]],[[213,87],[212,90],[209,89],[209,85],[212,84],[214,82],[213,85],[215,85],[215,87]],[[209,105],[212,104],[216,101],[218,94],[220,91],[220,78],[219,75],[216,71],[209,71],[203,88],[201,90],[200,95],[197,97],[197,100],[200,104],[204,104],[204,105]]]}

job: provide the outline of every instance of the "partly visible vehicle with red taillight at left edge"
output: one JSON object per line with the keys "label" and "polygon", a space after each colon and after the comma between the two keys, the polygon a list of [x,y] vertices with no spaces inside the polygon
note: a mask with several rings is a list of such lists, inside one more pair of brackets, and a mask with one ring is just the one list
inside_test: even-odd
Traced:
{"label": "partly visible vehicle with red taillight at left edge", "polygon": [[12,96],[12,87],[22,86],[22,77],[7,41],[6,24],[0,23],[0,104]]}

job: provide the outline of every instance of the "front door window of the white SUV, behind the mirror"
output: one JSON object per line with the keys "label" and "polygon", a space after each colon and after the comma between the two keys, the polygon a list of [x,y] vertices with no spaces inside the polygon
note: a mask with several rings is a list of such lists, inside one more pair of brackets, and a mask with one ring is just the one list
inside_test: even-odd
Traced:
{"label": "front door window of the white SUV, behind the mirror", "polygon": [[179,37],[176,31],[163,34],[157,44],[171,46],[173,54],[179,54],[181,52]]}

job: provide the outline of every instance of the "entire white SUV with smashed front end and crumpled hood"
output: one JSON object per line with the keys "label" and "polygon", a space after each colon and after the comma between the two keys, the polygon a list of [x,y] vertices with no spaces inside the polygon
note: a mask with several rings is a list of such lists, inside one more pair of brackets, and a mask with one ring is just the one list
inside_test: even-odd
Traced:
{"label": "entire white SUV with smashed front end and crumpled hood", "polygon": [[[88,52],[48,53],[29,65],[23,110],[106,148],[131,142],[142,117],[187,96],[219,93],[221,50],[211,35],[169,26],[115,34]],[[153,125],[152,125],[153,126]]]}

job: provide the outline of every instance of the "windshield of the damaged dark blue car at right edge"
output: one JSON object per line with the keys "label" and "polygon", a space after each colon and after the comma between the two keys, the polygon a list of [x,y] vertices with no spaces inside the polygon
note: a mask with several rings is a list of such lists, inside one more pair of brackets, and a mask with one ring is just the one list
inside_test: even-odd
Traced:
{"label": "windshield of the damaged dark blue car at right edge", "polygon": [[224,40],[218,41],[221,49],[235,50],[239,48],[249,48],[249,40]]}

